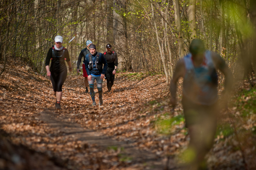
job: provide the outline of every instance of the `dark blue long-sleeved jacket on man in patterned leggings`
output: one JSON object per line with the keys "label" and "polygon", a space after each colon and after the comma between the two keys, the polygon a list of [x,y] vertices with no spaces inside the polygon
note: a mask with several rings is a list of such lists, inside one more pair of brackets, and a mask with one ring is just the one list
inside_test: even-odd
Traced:
{"label": "dark blue long-sleeved jacket on man in patterned leggings", "polygon": [[[105,74],[106,70],[107,70],[107,60],[105,59],[103,54],[99,53],[99,52],[96,52],[94,55],[92,55],[92,60],[93,60],[93,69],[92,70],[89,70],[89,62],[90,62],[89,54],[87,54],[85,56],[85,60],[84,60],[84,65],[85,65],[85,69],[86,69],[87,75],[89,76],[91,74],[94,74],[94,75],[97,76],[97,75]],[[96,68],[96,64],[95,64],[95,62],[96,62],[96,54],[99,55],[99,63],[104,64],[103,69],[97,69]]]}

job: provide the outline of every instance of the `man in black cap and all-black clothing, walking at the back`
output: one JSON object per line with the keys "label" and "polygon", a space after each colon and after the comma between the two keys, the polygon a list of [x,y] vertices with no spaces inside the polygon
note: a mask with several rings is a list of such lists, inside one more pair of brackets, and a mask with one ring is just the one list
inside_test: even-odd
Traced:
{"label": "man in black cap and all-black clothing, walking at the back", "polygon": [[107,51],[104,52],[104,57],[107,60],[107,71],[106,71],[106,79],[107,79],[107,90],[110,93],[111,88],[114,84],[118,59],[116,52],[112,51],[112,46],[110,44],[106,45]]}

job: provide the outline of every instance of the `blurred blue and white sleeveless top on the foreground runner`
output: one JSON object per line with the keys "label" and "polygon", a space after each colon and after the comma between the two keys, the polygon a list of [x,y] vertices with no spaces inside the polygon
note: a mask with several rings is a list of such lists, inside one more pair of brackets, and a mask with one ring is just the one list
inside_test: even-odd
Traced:
{"label": "blurred blue and white sleeveless top on the foreground runner", "polygon": [[218,76],[211,51],[205,52],[205,59],[200,67],[194,67],[191,53],[183,59],[186,68],[183,95],[197,104],[212,105],[215,103],[218,99]]}

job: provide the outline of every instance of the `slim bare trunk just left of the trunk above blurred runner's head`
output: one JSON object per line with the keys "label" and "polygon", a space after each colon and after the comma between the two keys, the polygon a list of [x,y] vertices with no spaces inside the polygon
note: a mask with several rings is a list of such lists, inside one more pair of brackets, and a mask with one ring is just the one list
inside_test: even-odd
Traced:
{"label": "slim bare trunk just left of the trunk above blurred runner's head", "polygon": [[175,0],[175,4],[176,4],[176,9],[174,10],[176,15],[177,15],[177,22],[178,22],[178,38],[179,38],[179,47],[180,47],[180,58],[183,57],[185,55],[185,51],[184,51],[184,41],[183,41],[183,36],[182,36],[182,25],[181,25],[181,13],[180,13],[180,4],[179,4],[179,0]]}

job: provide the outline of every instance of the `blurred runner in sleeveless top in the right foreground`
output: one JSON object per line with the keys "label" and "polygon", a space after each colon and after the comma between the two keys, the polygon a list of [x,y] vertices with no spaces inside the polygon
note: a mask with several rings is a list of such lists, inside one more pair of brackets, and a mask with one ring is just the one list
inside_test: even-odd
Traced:
{"label": "blurred runner in sleeveless top in the right foreground", "polygon": [[[204,157],[213,146],[216,133],[216,118],[219,114],[218,76],[216,70],[225,75],[223,106],[227,106],[231,90],[232,73],[221,56],[205,50],[202,40],[191,42],[190,53],[178,61],[170,84],[171,104],[176,104],[176,84],[180,77],[183,81],[182,105],[190,143],[182,159],[189,169],[206,169]],[[187,167],[188,168],[188,167]]]}

